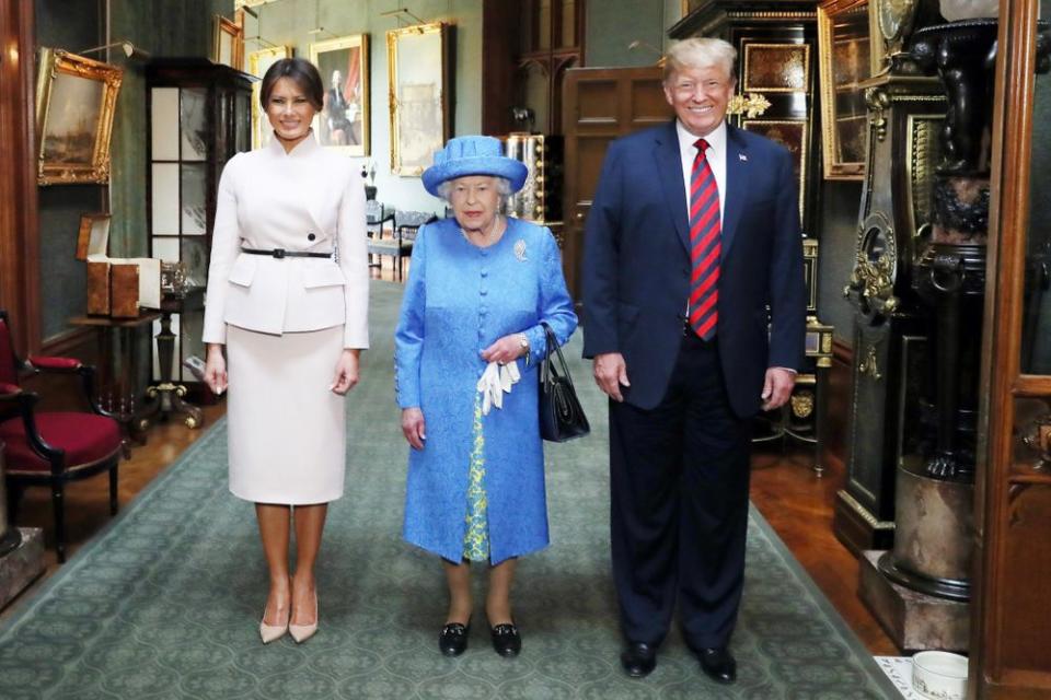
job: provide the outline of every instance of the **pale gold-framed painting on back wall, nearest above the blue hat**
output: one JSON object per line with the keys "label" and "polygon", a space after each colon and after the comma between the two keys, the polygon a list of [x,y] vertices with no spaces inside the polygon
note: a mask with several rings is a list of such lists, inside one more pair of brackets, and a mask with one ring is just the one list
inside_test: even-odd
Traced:
{"label": "pale gold-framed painting on back wall, nearest above the blue hat", "polygon": [[419,176],[449,138],[449,25],[386,33],[391,91],[391,172]]}

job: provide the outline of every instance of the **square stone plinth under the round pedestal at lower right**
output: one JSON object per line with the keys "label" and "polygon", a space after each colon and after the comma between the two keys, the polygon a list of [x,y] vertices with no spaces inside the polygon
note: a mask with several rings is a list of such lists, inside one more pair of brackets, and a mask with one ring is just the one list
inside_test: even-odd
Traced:
{"label": "square stone plinth under the round pedestal at lower right", "polygon": [[970,605],[925,595],[889,581],[877,565],[882,555],[876,550],[863,552],[858,596],[887,634],[908,652],[924,649],[966,652]]}

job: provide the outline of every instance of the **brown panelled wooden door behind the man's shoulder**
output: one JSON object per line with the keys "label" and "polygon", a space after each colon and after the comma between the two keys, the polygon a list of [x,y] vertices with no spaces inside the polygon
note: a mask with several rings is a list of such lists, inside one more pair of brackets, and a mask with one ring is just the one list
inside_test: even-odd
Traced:
{"label": "brown panelled wooden door behind the man's shoulder", "polygon": [[580,299],[584,222],[610,141],[663,124],[674,114],[660,84],[660,68],[576,68],[566,71],[563,269],[569,293]]}

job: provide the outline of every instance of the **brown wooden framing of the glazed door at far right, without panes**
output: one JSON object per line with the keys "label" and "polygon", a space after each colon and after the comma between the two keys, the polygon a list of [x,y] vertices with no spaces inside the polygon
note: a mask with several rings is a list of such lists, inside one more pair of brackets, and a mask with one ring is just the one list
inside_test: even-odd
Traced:
{"label": "brown wooden framing of the glazed door at far right, without panes", "polygon": [[[1008,574],[1019,565],[1047,569],[1041,561],[1018,562],[1008,545],[1012,510],[1017,495],[1029,488],[1051,489],[1051,475],[1027,469],[1018,450],[1016,425],[1019,399],[1051,400],[1051,376],[1023,374],[1020,339],[1029,225],[1030,144],[1036,83],[1036,38],[1039,0],[1001,0],[1000,52],[993,100],[990,235],[982,339],[982,378],[978,478],[974,502],[975,587],[971,614],[969,697],[1021,699],[1051,691],[1051,655],[1042,668],[1017,658],[1017,640],[1008,643],[1007,616],[1031,616],[1033,632],[1027,644],[1047,649],[1051,632],[1039,631],[1038,610],[1019,609],[1013,593],[1032,581]],[[1046,436],[1051,441],[1051,436]],[[1017,551],[1017,550],[1014,550]],[[1049,548],[1033,552],[1051,557]],[[1014,557],[1014,559],[1013,559]],[[1037,564],[1037,565],[1035,565]],[[1047,608],[1044,608],[1047,609]],[[1047,626],[1047,620],[1043,620]]]}

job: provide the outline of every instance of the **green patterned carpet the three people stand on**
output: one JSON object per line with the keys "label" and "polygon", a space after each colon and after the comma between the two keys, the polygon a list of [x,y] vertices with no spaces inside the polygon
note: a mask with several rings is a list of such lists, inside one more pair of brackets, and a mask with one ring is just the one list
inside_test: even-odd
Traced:
{"label": "green patterned carpet the three people stand on", "polygon": [[[481,595],[471,648],[437,650],[438,560],[400,539],[406,445],[393,401],[400,287],[374,282],[372,350],[350,398],[347,493],[320,564],[321,629],[263,646],[266,575],[252,506],[227,492],[222,422],[0,629],[0,698],[890,698],[896,691],[753,511],[732,649],[717,686],[673,632],[645,680],[620,669],[608,545],[604,401],[568,355],[593,433],[548,446],[552,546],[522,560],[523,650],[498,657]],[[476,578],[481,583],[481,578]]]}

